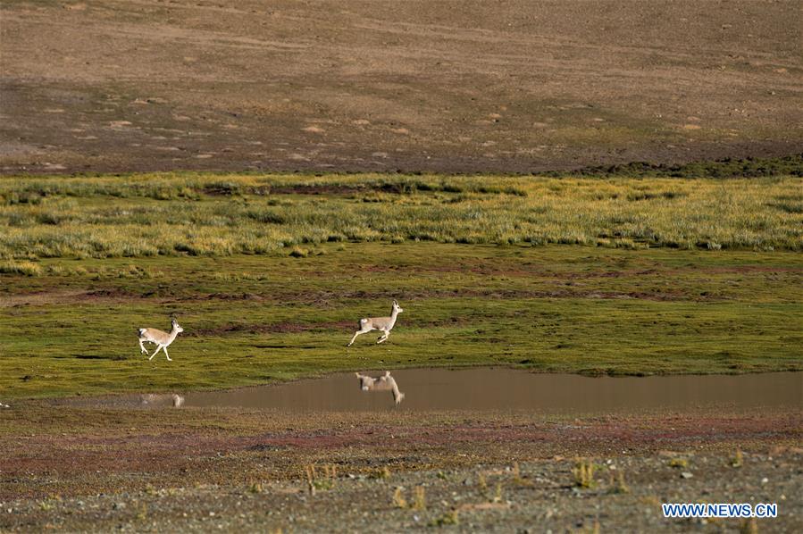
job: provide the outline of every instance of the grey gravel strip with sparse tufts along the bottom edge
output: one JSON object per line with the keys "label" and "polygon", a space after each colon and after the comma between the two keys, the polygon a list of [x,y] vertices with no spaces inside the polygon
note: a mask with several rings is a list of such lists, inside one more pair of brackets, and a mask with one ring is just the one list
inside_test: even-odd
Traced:
{"label": "grey gravel strip with sparse tufts along the bottom edge", "polygon": [[[355,475],[347,466],[314,495],[303,480],[204,485],[4,502],[4,529],[390,531],[453,526],[476,531],[730,531],[745,520],[670,520],[665,502],[777,503],[760,531],[803,526],[803,449],[727,455],[662,452],[600,457],[594,488],[574,484],[563,458],[472,469]],[[673,467],[673,463],[682,467]],[[518,471],[516,467],[518,466]],[[316,471],[322,471],[319,468]],[[623,473],[624,486],[616,478]],[[321,473],[322,474],[322,473]],[[613,477],[613,479],[612,479]],[[688,478],[687,478],[688,477]],[[423,506],[416,505],[422,488]],[[406,501],[403,505],[401,496]]]}

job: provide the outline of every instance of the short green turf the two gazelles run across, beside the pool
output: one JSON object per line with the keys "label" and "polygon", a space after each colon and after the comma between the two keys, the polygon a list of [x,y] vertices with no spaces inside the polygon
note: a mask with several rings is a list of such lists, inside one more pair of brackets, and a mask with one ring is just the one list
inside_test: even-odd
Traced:
{"label": "short green turf the two gazelles run across, beside the pool", "polygon": [[[330,243],[305,257],[53,258],[0,273],[2,396],[227,388],[332,371],[803,370],[798,253]],[[400,315],[389,342],[346,343]],[[136,329],[186,331],[148,362]]]}

